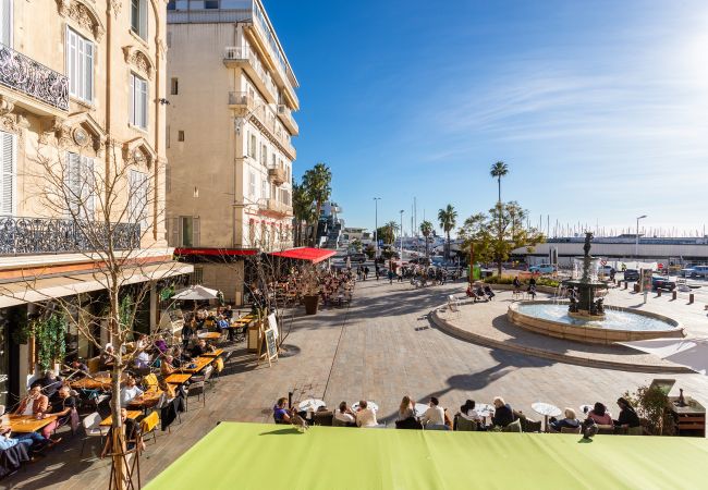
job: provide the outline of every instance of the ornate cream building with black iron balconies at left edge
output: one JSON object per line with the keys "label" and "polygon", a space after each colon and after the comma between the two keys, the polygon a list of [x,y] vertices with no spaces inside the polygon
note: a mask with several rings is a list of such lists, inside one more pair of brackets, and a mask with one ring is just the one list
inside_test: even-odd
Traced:
{"label": "ornate cream building with black iron balconies at left edge", "polygon": [[[150,287],[138,329],[158,324],[164,281],[192,270],[163,225],[166,16],[164,0],[0,0],[0,404],[35,368],[17,323],[52,298],[100,303],[106,256],[77,220],[96,236],[115,223],[126,284]],[[66,207],[48,196],[58,175]],[[76,330],[65,342],[97,355]]]}

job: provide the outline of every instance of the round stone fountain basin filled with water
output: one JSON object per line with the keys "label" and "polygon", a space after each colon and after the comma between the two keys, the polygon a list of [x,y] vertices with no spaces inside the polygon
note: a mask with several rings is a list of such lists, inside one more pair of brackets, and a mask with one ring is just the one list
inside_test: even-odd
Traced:
{"label": "round stone fountain basin filled with water", "polygon": [[590,344],[685,336],[681,323],[663,315],[606,306],[603,319],[584,319],[569,315],[567,306],[549,301],[513,303],[506,317],[525,330]]}

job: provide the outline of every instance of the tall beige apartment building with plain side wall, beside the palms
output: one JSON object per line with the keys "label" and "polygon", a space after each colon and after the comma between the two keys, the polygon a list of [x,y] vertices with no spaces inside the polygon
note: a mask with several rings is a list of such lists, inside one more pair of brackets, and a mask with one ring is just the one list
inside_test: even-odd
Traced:
{"label": "tall beige apartment building with plain side wall, beside the palms", "polygon": [[297,79],[259,0],[168,3],[168,240],[242,304],[247,257],[293,246]]}

